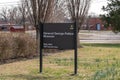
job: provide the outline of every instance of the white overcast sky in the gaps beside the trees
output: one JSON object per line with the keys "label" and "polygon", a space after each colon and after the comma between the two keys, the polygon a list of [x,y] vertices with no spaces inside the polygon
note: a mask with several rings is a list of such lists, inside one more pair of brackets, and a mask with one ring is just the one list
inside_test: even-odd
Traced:
{"label": "white overcast sky in the gaps beside the trees", "polygon": [[[19,0],[0,0],[0,9],[5,6],[15,6]],[[89,14],[103,14],[101,10],[103,5],[107,4],[107,0],[93,0],[89,10]]]}

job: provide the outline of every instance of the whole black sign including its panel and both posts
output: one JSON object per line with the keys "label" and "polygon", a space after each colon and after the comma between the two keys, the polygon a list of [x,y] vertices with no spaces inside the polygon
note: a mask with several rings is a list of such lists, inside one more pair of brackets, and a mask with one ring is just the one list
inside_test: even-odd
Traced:
{"label": "whole black sign including its panel and both posts", "polygon": [[76,22],[40,24],[40,73],[43,67],[42,49],[74,49],[74,74],[77,74]]}

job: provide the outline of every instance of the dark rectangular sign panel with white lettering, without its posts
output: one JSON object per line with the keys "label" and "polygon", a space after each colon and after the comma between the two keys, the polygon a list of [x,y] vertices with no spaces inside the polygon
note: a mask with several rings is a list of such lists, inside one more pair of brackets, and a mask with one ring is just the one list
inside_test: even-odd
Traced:
{"label": "dark rectangular sign panel with white lettering, without its posts", "polygon": [[74,49],[73,23],[45,23],[43,25],[44,49]]}

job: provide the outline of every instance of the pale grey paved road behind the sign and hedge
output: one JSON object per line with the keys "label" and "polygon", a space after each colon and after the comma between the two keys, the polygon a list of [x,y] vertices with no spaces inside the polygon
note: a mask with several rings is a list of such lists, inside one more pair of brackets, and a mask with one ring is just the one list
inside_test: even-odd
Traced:
{"label": "pale grey paved road behind the sign and hedge", "polygon": [[[31,37],[35,38],[35,31],[27,31]],[[120,33],[112,31],[80,31],[81,43],[120,43]]]}

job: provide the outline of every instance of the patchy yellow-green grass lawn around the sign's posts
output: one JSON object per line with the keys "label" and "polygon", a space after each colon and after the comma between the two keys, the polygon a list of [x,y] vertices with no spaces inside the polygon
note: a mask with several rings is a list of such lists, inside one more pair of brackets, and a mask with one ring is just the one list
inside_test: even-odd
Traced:
{"label": "patchy yellow-green grass lawn around the sign's posts", "polygon": [[0,65],[0,80],[120,80],[120,44],[82,44],[78,50],[78,74],[73,76],[73,51]]}

